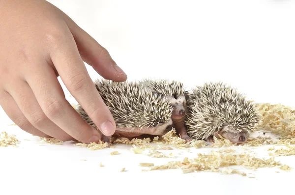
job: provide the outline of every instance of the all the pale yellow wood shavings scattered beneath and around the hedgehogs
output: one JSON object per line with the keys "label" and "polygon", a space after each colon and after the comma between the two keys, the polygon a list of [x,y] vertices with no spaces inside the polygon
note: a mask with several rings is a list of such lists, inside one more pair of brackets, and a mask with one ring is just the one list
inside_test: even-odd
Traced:
{"label": "all the pale yellow wood shavings scattered beneath and around the hedgehogs", "polygon": [[[204,140],[193,140],[185,143],[183,139],[180,139],[176,135],[176,131],[172,130],[165,136],[156,137],[151,139],[126,139],[118,138],[112,140],[112,148],[115,148],[116,144],[130,145],[130,150],[134,154],[148,155],[152,158],[173,158],[174,154],[170,153],[166,155],[158,150],[174,150],[182,149],[190,151],[190,148],[212,148],[212,151],[208,154],[198,153],[195,158],[184,158],[182,161],[170,161],[165,165],[154,166],[153,163],[141,163],[139,166],[148,167],[148,170],[159,169],[181,169],[183,173],[190,173],[194,171],[213,171],[223,174],[240,174],[247,175],[244,172],[240,172],[237,169],[229,168],[230,166],[242,166],[249,169],[257,169],[261,167],[278,167],[285,171],[290,171],[293,168],[288,165],[281,164],[275,161],[276,157],[295,155],[295,110],[281,105],[271,105],[268,103],[258,104],[257,109],[262,116],[262,121],[259,124],[257,130],[252,132],[252,138],[244,144],[233,144],[227,139],[216,139],[214,143],[208,144]],[[258,136],[254,136],[254,135]],[[269,136],[261,136],[269,135]],[[58,139],[41,138],[41,141],[50,144],[62,144],[62,141]],[[6,132],[0,133],[0,146],[14,146],[20,141],[15,135],[8,135]],[[74,142],[73,144],[81,147],[86,147],[90,150],[100,150],[110,147],[107,143],[80,143]],[[269,145],[267,150],[269,154],[268,159],[260,159],[255,157],[251,147],[260,147]],[[274,146],[280,146],[279,149],[275,149]],[[213,150],[213,149],[219,150]],[[236,149],[242,149],[243,152],[237,152]],[[118,155],[118,151],[112,152],[110,155]],[[103,167],[102,164],[100,164]],[[121,171],[124,171],[122,168]]]}

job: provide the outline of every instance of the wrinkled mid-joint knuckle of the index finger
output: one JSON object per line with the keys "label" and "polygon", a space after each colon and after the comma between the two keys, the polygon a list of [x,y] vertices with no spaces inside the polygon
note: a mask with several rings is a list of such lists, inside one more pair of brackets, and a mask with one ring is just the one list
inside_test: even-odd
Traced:
{"label": "wrinkled mid-joint knuckle of the index finger", "polygon": [[69,82],[71,91],[74,93],[81,93],[89,89],[89,84],[84,74],[75,73],[70,75]]}

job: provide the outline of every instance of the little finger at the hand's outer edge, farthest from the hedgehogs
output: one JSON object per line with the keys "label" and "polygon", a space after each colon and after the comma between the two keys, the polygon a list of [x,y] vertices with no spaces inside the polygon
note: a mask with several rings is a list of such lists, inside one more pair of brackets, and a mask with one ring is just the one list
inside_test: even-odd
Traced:
{"label": "little finger at the hand's outer edge, farthest from the hedgehogs", "polygon": [[7,116],[22,130],[34,136],[41,138],[50,138],[50,136],[36,129],[32,124],[29,123],[23,112],[19,109],[12,96],[3,91],[0,98],[0,105]]}

